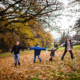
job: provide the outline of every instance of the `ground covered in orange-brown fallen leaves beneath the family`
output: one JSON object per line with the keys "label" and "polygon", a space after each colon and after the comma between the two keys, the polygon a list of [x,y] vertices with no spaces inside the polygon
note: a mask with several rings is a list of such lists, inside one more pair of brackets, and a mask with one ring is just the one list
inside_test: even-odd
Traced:
{"label": "ground covered in orange-brown fallen leaves beneath the family", "polygon": [[[27,53],[26,53],[27,54]],[[0,80],[80,80],[80,48],[73,49],[74,59],[63,50],[56,51],[50,62],[50,52],[41,52],[41,59],[33,63],[34,54],[20,55],[21,65],[14,67],[14,58],[0,59]]]}

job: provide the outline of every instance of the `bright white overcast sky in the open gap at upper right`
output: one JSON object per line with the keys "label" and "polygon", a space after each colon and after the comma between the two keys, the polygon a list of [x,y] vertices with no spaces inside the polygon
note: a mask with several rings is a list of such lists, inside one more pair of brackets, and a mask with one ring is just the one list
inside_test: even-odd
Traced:
{"label": "bright white overcast sky in the open gap at upper right", "polygon": [[[60,0],[61,1],[61,0]],[[58,26],[61,33],[53,30],[51,35],[53,38],[60,38],[61,34],[65,31],[71,31],[75,25],[76,20],[80,17],[80,3],[75,3],[73,6],[68,5],[68,0],[62,0],[64,3],[65,10],[62,12],[64,16],[58,16],[54,22],[50,22],[52,26]],[[69,8],[67,8],[69,6]],[[75,12],[75,10],[78,10]],[[48,30],[48,29],[47,29]],[[73,36],[76,32],[70,32],[70,36]]]}

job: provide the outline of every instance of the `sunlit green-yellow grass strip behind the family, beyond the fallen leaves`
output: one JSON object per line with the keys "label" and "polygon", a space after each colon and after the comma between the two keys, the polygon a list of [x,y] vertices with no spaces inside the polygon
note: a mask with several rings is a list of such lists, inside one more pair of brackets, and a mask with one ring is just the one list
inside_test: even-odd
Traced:
{"label": "sunlit green-yellow grass strip behind the family, beyond the fallen leaves", "polygon": [[[77,47],[80,47],[80,45],[76,45],[76,46],[73,46],[73,48],[77,48]],[[51,48],[47,48],[47,49],[51,49]],[[58,50],[64,50],[65,48],[64,47],[61,47],[61,48],[59,48]],[[29,54],[30,52],[33,52],[33,50],[31,50],[31,51],[21,51],[20,52],[20,54],[25,54],[25,53],[27,53],[27,54]],[[0,57],[4,57],[4,56],[10,56],[10,52],[8,52],[8,53],[3,53],[3,54],[0,54]]]}

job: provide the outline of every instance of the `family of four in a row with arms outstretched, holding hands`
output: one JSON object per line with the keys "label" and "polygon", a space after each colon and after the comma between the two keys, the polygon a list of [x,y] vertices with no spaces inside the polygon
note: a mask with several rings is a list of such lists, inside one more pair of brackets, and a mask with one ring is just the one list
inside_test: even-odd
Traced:
{"label": "family of four in a row with arms outstretched, holding hands", "polygon": [[[61,45],[58,47],[58,48],[60,48],[60,47],[62,47],[62,46],[65,47],[65,51],[64,51],[64,53],[63,53],[63,55],[62,55],[62,58],[61,58],[62,60],[64,59],[64,56],[65,56],[65,54],[66,54],[67,51],[70,52],[71,58],[72,58],[72,59],[74,58],[74,57],[73,57],[73,52],[72,52],[72,49],[73,49],[72,43],[76,43],[76,42],[80,42],[80,41],[72,41],[72,40],[70,40],[70,37],[67,37],[67,40],[65,41],[65,43],[61,44]],[[51,58],[49,59],[50,61],[51,61],[52,58],[55,56],[55,51],[56,51],[58,48],[54,49],[54,47],[52,47],[51,50],[48,50],[48,51],[51,52],[51,54],[50,54]],[[36,47],[29,47],[29,48],[27,48],[27,47],[22,47],[22,46],[19,45],[19,41],[17,41],[17,42],[16,42],[16,45],[12,48],[12,51],[11,51],[11,55],[12,55],[12,52],[14,52],[15,66],[17,65],[17,60],[18,60],[18,65],[20,65],[20,59],[19,59],[19,51],[20,51],[20,49],[30,49],[30,50],[32,49],[32,50],[34,50],[34,61],[33,61],[34,63],[35,63],[35,61],[36,61],[36,56],[38,56],[38,59],[40,60],[40,62],[42,62],[42,60],[41,60],[41,58],[40,58],[40,52],[41,52],[41,50],[46,50],[46,48],[41,48],[41,47],[39,47],[39,44],[37,44]]]}

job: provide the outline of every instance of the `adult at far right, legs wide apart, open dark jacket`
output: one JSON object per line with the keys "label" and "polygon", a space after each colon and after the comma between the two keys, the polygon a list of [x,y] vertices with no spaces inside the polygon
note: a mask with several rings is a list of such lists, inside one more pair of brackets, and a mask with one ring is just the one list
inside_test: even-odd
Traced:
{"label": "adult at far right, legs wide apart, open dark jacket", "polygon": [[70,40],[70,37],[67,37],[67,40],[65,41],[65,43],[61,44],[61,46],[65,46],[65,51],[64,51],[64,54],[62,56],[62,60],[64,59],[64,56],[66,54],[67,51],[70,52],[71,54],[71,58],[73,59],[73,53],[72,53],[72,49],[73,49],[73,45],[72,43],[76,43],[76,42],[79,42],[79,41],[76,41],[76,40]]}

